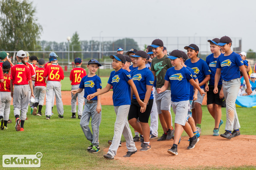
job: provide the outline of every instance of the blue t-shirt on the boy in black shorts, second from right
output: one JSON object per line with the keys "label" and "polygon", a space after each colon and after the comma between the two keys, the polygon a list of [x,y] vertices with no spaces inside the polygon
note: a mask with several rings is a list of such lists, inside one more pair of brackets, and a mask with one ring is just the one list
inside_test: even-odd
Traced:
{"label": "blue t-shirt on the boy in black shorts, second from right", "polygon": [[[215,77],[215,74],[216,74],[216,63],[217,63],[217,58],[214,58],[213,56],[214,54],[210,54],[206,57],[206,60],[205,62],[207,63],[207,65],[209,66],[209,69],[211,70],[211,75],[210,75],[210,80],[209,80],[209,84],[214,86],[214,77]],[[221,81],[221,75],[220,75],[220,80],[218,82],[218,85],[221,85],[222,84],[222,81]]]}

